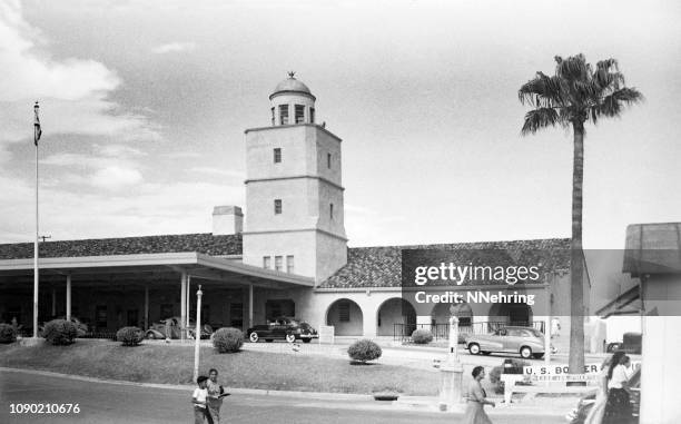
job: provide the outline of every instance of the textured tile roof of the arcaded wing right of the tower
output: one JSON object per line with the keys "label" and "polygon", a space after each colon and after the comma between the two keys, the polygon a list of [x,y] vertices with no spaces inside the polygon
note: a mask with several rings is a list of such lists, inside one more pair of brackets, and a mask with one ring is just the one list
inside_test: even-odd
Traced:
{"label": "textured tile roof of the arcaded wing right of the tower", "polygon": [[[318,288],[362,288],[362,287],[399,287],[402,285],[402,250],[404,249],[443,249],[461,253],[465,263],[471,259],[470,250],[485,249],[499,255],[492,260],[509,263],[517,253],[523,264],[541,262],[544,270],[570,269],[570,238],[550,238],[536,240],[481,241],[414,246],[377,246],[355,247],[347,250],[347,265],[338,269]],[[466,250],[468,253],[466,254]],[[486,264],[492,264],[490,257]]]}

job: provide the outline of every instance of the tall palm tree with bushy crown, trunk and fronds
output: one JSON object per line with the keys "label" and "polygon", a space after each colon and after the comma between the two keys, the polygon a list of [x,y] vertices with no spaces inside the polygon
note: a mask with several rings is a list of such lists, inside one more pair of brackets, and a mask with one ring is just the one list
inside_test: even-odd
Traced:
{"label": "tall palm tree with bushy crown, trunk and fronds", "polygon": [[584,290],[582,252],[582,184],[584,174],[584,122],[619,117],[626,106],[643,100],[635,88],[624,85],[615,59],[601,60],[595,69],[583,55],[555,57],[555,73],[536,76],[517,91],[521,103],[533,107],[525,114],[521,134],[535,134],[547,127],[572,127],[572,241],[570,260],[571,321],[570,373],[584,369]]}

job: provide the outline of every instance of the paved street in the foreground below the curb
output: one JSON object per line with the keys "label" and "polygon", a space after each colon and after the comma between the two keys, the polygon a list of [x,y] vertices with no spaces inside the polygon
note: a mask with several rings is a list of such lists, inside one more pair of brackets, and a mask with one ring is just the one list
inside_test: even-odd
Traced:
{"label": "paved street in the foreground below the curb", "polygon": [[[0,372],[1,423],[191,423],[191,390],[155,388]],[[11,414],[12,404],[79,404],[79,414]],[[539,411],[539,410],[537,410]],[[553,415],[504,414],[494,423],[557,424]],[[456,423],[461,415],[408,411],[389,404],[235,394],[223,405],[223,423]]]}

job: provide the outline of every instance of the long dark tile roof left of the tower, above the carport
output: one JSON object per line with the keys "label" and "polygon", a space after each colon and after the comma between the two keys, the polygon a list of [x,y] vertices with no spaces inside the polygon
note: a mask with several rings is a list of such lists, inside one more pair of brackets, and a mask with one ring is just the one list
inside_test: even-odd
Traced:
{"label": "long dark tile roof left of the tower, above the carport", "polygon": [[[210,233],[167,236],[93,238],[83,240],[45,241],[40,257],[106,256],[198,252],[206,255],[240,255],[241,235],[214,236]],[[1,259],[33,257],[32,243],[0,245]]]}

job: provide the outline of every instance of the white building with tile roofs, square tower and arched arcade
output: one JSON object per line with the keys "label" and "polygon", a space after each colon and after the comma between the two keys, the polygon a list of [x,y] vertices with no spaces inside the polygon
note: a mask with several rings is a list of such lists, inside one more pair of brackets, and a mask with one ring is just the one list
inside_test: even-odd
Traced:
{"label": "white building with tile roofs, square tower and arched arcade", "polygon": [[[569,239],[348,248],[340,138],[315,122],[316,98],[293,73],[269,100],[270,126],[246,130],[245,223],[239,207],[218,206],[211,234],[42,243],[40,322],[72,315],[100,333],[147,327],[191,314],[201,284],[204,317],[213,326],[247,328],[287,315],[333,325],[338,336],[401,337],[417,324],[444,329],[450,306],[416,313],[417,305],[403,300],[403,249],[494,249],[500,258],[535,252],[541,280],[511,288],[549,305],[564,341],[554,344],[566,351]],[[32,255],[32,244],[0,245],[0,316],[27,327]],[[464,310],[461,325],[475,332],[541,326],[543,310],[539,316],[525,305],[485,305]]]}

